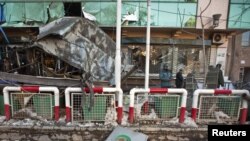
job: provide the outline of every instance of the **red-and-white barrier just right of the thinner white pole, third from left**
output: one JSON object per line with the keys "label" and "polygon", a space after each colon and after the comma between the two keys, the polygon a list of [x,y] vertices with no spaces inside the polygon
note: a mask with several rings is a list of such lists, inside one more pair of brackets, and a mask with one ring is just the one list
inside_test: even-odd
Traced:
{"label": "red-and-white barrier just right of the thinner white pole, third from left", "polygon": [[[176,112],[175,110],[180,108],[180,116],[179,116],[179,122],[183,123],[185,120],[185,111],[186,111],[186,101],[187,101],[187,91],[185,89],[167,89],[167,88],[149,88],[149,89],[140,89],[140,88],[133,88],[130,91],[130,105],[129,105],[129,122],[133,123],[134,122],[134,115],[136,111],[140,111],[141,110],[141,106],[137,106],[135,107],[135,95],[136,94],[142,94],[142,93],[148,93],[148,97],[147,95],[145,95],[145,100],[143,100],[143,102],[141,103],[144,107],[144,113],[149,113],[149,108],[150,105],[152,107],[152,104],[160,104],[160,105],[154,105],[154,110],[156,110],[156,113],[158,113],[159,117],[161,118],[168,118],[168,117],[173,117],[176,116],[176,114],[178,112]],[[174,94],[173,96],[170,96],[171,94]],[[180,94],[181,97],[181,102],[179,105],[179,98],[178,96],[176,96],[176,94]],[[154,96],[154,100],[158,101],[158,102],[150,102],[150,97]],[[167,96],[167,97],[166,97]],[[173,104],[171,105],[161,105],[162,103],[162,99],[166,98],[168,100],[173,100]],[[166,103],[166,101],[163,103]],[[180,106],[180,107],[179,107]],[[136,108],[136,109],[135,109]],[[138,109],[139,108],[139,109]],[[171,108],[171,109],[169,109]],[[164,110],[170,110],[168,112],[164,111]],[[138,112],[137,112],[138,113]],[[139,112],[140,113],[140,112]],[[151,112],[152,113],[152,112]],[[174,114],[173,114],[174,113]]]}

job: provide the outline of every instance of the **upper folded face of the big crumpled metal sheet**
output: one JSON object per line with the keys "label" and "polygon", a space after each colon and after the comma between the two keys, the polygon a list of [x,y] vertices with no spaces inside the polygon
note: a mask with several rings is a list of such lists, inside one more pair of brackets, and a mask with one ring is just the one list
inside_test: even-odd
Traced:
{"label": "upper folded face of the big crumpled metal sheet", "polygon": [[76,35],[75,38],[85,37],[108,55],[115,57],[115,42],[97,25],[79,17],[64,17],[41,27],[38,40],[48,35],[59,35],[61,38],[73,41],[69,36],[65,37],[69,34]]}

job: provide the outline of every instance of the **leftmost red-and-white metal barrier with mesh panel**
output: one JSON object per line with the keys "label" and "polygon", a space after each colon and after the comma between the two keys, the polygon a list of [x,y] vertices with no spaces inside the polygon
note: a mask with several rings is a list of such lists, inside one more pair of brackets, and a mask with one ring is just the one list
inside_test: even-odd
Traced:
{"label": "leftmost red-and-white metal barrier with mesh panel", "polygon": [[[3,89],[6,120],[36,114],[59,120],[59,90],[56,87],[7,86]],[[53,109],[54,107],[54,109]],[[31,113],[34,112],[34,113]]]}

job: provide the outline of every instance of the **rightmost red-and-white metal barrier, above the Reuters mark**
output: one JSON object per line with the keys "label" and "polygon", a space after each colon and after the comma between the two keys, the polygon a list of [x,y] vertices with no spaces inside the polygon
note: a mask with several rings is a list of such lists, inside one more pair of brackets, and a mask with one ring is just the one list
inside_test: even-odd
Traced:
{"label": "rightmost red-and-white metal barrier, above the Reuters mark", "polygon": [[214,121],[223,118],[226,121],[238,121],[244,124],[247,118],[247,90],[198,89],[194,92],[191,117],[194,121]]}

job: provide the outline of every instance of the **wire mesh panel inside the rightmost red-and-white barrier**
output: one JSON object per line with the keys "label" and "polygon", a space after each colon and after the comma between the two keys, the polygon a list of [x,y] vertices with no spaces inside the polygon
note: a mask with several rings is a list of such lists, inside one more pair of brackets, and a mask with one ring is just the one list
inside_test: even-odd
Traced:
{"label": "wire mesh panel inside the rightmost red-and-white barrier", "polygon": [[197,121],[237,121],[240,107],[239,96],[200,96]]}

